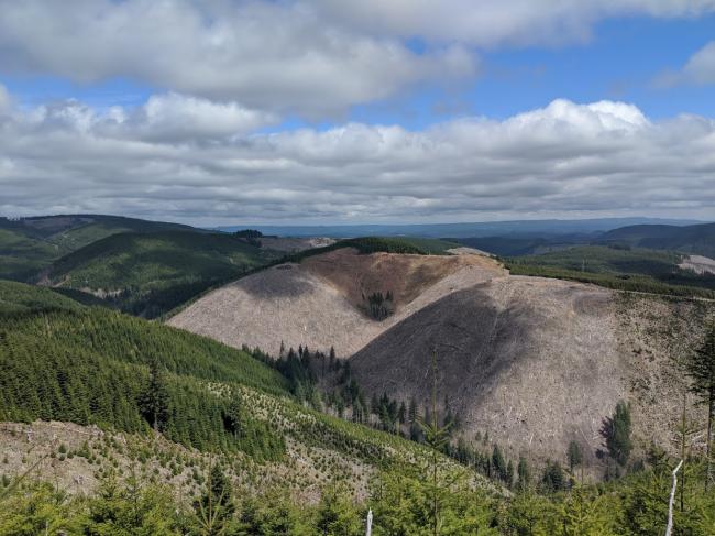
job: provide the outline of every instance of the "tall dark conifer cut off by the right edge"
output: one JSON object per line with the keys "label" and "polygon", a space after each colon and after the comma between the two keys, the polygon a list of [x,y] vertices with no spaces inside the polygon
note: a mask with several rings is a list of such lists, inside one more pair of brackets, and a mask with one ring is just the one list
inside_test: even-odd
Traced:
{"label": "tall dark conifer cut off by the right edge", "polygon": [[692,390],[707,406],[705,491],[708,490],[712,471],[713,417],[715,415],[715,322],[710,327],[703,344],[688,361],[688,375]]}

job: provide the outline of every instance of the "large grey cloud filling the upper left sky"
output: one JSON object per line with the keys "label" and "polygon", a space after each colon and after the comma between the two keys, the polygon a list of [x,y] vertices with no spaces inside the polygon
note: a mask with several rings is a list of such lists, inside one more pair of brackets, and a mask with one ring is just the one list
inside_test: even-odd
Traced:
{"label": "large grey cloud filling the upper left sky", "polygon": [[116,76],[307,116],[472,76],[460,45],[417,54],[328,24],[309,3],[0,0],[0,65],[80,83]]}

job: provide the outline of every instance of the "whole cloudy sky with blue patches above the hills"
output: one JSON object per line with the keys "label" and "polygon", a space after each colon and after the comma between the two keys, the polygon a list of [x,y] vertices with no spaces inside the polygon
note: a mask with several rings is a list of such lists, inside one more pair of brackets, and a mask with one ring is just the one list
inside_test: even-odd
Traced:
{"label": "whole cloudy sky with blue patches above the hills", "polygon": [[715,220],[715,0],[0,0],[0,215]]}

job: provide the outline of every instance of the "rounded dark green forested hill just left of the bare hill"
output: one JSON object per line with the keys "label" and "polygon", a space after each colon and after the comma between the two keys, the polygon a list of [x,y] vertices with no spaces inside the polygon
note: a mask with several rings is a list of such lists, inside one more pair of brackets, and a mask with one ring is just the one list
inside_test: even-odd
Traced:
{"label": "rounded dark green forested hill just left of the bare hill", "polygon": [[55,261],[41,283],[153,318],[278,255],[223,233],[118,233]]}

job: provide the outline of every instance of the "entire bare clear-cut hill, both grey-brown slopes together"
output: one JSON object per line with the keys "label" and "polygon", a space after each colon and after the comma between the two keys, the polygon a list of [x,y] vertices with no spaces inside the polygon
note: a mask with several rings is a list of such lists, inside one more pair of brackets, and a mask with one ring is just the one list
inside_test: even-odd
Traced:
{"label": "entire bare clear-cut hill, both grey-brown slopes together", "polygon": [[[420,412],[436,350],[440,411],[459,415],[465,438],[486,435],[538,463],[573,440],[600,471],[598,429],[622,398],[634,401],[639,445],[667,446],[684,389],[678,359],[715,314],[707,300],[509,275],[482,255],[314,253],[216,289],[169,324],[274,355],[282,343],[334,347],[366,396]],[[388,291],[392,314],[367,314],[365,297]]]}

